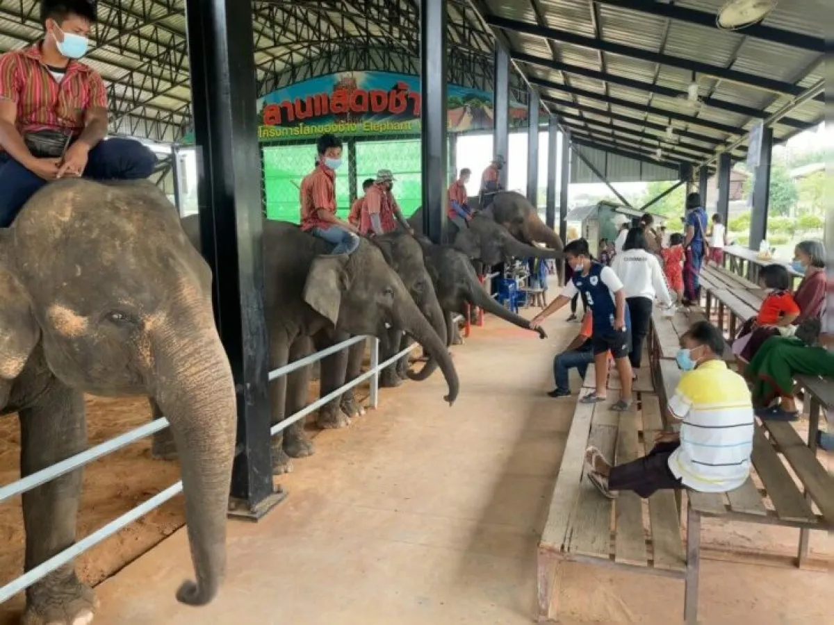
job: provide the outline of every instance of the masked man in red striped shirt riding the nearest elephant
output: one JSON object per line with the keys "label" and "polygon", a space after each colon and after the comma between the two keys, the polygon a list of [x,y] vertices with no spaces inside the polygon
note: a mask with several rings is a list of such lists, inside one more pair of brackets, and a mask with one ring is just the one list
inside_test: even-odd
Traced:
{"label": "masked man in red striped shirt riding the nearest elephant", "polygon": [[89,0],[44,0],[44,36],[0,56],[0,228],[58,178],[148,178],[156,157],[130,139],[103,141],[107,91],[78,59],[96,21]]}

